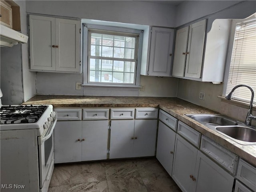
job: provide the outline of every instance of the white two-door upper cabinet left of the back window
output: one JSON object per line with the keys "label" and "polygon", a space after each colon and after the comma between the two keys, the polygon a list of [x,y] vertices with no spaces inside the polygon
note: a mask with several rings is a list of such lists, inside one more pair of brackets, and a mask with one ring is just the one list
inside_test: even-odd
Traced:
{"label": "white two-door upper cabinet left of the back window", "polygon": [[29,16],[30,70],[81,73],[80,21]]}

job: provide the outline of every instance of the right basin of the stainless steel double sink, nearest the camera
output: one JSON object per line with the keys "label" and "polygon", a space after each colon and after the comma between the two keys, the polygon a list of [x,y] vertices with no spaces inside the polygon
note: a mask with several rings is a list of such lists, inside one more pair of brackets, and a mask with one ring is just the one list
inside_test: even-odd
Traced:
{"label": "right basin of the stainless steel double sink, nearest the camera", "polygon": [[220,126],[216,130],[240,141],[256,142],[256,130],[244,126]]}

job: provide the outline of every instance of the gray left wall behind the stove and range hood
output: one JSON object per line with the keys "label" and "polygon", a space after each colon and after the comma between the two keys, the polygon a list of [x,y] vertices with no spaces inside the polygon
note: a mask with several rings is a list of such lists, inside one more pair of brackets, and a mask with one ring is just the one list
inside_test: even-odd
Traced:
{"label": "gray left wall behind the stove and range hood", "polygon": [[[15,2],[20,6],[21,32],[27,34],[26,2]],[[36,94],[36,73],[28,66],[28,44],[1,48],[3,104],[21,104]]]}

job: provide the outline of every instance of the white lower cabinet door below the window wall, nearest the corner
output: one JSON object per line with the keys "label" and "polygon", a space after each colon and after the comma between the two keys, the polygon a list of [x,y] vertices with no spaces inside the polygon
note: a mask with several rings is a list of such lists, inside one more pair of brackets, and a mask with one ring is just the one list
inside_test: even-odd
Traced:
{"label": "white lower cabinet door below the window wall, nearest the corner", "polygon": [[134,157],[154,156],[156,151],[157,120],[135,120]]}

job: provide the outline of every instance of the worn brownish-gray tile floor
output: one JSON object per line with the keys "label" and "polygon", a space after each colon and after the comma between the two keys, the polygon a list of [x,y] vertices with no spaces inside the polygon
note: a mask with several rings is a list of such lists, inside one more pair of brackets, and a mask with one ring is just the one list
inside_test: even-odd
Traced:
{"label": "worn brownish-gray tile floor", "polygon": [[156,158],[55,165],[48,192],[181,192]]}

